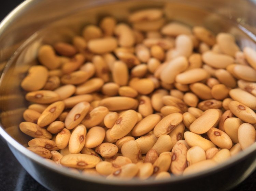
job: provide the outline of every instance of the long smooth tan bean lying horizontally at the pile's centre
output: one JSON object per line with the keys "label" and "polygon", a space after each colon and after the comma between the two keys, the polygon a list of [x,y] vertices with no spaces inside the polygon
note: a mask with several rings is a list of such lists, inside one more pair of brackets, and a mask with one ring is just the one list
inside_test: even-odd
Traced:
{"label": "long smooth tan bean lying horizontally at the pile's centre", "polygon": [[136,109],[138,101],[129,97],[110,97],[102,99],[99,106],[105,106],[110,111]]}

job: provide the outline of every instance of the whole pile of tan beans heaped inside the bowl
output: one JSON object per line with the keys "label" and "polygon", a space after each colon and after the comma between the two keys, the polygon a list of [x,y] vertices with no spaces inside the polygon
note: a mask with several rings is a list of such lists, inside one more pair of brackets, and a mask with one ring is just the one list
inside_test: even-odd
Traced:
{"label": "whole pile of tan beans heaped inside the bowl", "polygon": [[256,51],[162,10],[104,17],[42,45],[21,87],[28,149],[80,173],[141,180],[215,167],[255,142]]}

